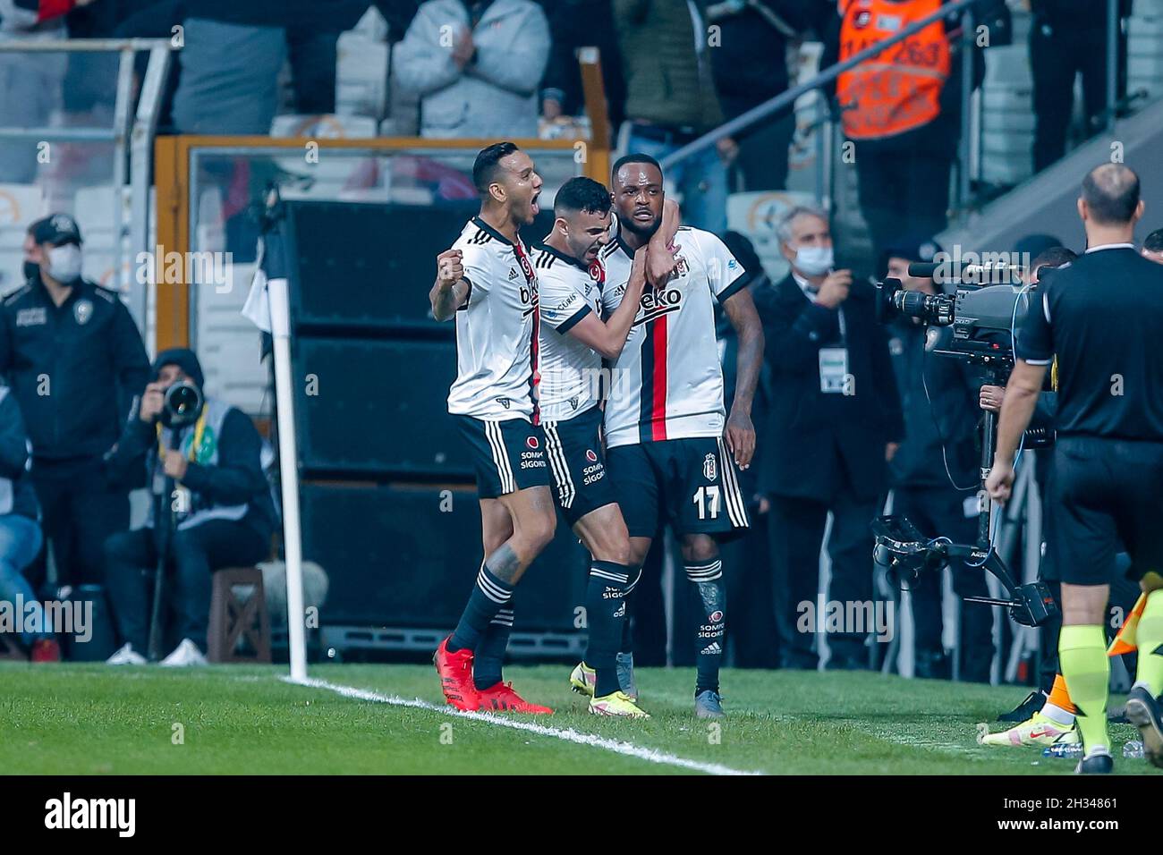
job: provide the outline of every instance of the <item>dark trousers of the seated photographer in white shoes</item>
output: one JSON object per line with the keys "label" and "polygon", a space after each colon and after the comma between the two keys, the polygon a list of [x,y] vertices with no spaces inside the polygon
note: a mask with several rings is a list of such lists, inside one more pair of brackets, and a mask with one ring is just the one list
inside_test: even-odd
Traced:
{"label": "dark trousers of the seated photographer in white shoes", "polygon": [[[177,617],[179,639],[206,650],[211,613],[211,573],[227,567],[251,567],[266,558],[270,542],[245,522],[208,520],[173,533],[166,599]],[[152,528],[115,534],[105,542],[109,600],[122,642],[144,653],[149,639],[150,586],[157,569]]]}

